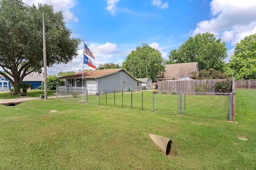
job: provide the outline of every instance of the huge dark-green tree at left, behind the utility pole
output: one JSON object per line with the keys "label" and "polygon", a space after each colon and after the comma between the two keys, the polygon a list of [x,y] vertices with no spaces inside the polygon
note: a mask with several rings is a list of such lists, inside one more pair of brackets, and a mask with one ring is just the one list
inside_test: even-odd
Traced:
{"label": "huge dark-green tree at left, behind the utility pole", "polygon": [[62,12],[47,4],[26,6],[16,0],[0,0],[0,66],[15,87],[43,67],[42,12],[45,13],[47,66],[68,63],[78,55],[80,39],[70,38]]}

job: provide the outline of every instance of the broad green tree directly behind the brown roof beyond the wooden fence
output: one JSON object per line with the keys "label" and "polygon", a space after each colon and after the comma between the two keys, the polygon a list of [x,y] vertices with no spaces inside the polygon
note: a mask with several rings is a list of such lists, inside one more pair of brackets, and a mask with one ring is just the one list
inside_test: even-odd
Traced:
{"label": "broad green tree directly behind the brown roof beyond the wooden fence", "polygon": [[197,62],[199,70],[223,71],[226,57],[226,44],[220,38],[216,39],[212,33],[199,33],[189,37],[178,50],[170,51],[166,64]]}

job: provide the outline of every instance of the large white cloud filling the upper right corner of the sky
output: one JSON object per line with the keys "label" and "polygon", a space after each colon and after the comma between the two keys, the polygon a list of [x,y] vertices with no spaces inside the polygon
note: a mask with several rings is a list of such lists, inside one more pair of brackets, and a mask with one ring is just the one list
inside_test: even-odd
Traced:
{"label": "large white cloud filling the upper right corner of the sky", "polygon": [[235,46],[244,37],[256,33],[256,1],[212,0],[212,19],[197,23],[192,32],[210,32]]}

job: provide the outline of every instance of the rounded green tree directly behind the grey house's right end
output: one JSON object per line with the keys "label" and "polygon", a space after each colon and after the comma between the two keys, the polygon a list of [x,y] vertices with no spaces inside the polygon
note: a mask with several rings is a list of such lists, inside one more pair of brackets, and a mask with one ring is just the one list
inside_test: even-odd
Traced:
{"label": "rounded green tree directly behind the grey house's right end", "polygon": [[151,78],[153,81],[165,71],[161,53],[146,43],[136,47],[126,57],[122,67],[136,78]]}

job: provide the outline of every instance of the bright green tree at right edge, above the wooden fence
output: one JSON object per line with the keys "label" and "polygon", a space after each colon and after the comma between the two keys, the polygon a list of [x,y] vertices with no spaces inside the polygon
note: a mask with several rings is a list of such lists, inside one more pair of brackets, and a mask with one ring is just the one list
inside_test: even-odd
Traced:
{"label": "bright green tree at right edge, above the wooden fence", "polygon": [[256,34],[249,35],[236,44],[227,69],[235,79],[256,79]]}

